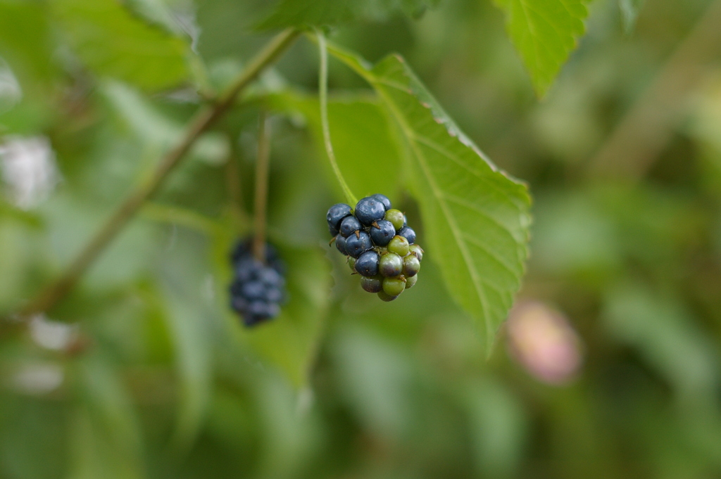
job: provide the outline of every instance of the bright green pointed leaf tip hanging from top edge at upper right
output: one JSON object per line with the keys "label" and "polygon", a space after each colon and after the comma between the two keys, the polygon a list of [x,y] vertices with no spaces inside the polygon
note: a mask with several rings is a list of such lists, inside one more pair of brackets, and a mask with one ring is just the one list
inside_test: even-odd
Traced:
{"label": "bright green pointed leaf tip hanging from top edge at upper right", "polygon": [[495,0],[505,11],[510,40],[543,97],[585,32],[587,0]]}

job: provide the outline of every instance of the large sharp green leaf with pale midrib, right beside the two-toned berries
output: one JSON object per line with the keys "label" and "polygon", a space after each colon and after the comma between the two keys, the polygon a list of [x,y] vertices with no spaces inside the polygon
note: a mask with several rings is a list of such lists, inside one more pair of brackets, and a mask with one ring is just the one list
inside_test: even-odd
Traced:
{"label": "large sharp green leaf with pale midrib, right beside the two-toned berries", "polygon": [[420,204],[428,257],[438,262],[451,295],[477,320],[490,350],[523,276],[530,198],[454,124],[403,58],[369,68],[331,53],[363,76],[397,123],[406,146],[410,187]]}

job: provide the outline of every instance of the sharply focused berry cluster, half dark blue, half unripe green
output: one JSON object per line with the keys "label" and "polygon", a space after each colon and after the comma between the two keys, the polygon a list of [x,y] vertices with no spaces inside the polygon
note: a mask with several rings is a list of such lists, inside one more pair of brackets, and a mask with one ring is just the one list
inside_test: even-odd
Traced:
{"label": "sharply focused berry cluster, half dark blue, half unripe green", "polygon": [[415,244],[405,215],[392,209],[383,194],[363,198],[355,210],[345,203],[333,205],[326,219],[338,251],[361,274],[363,290],[392,301],[415,285],[423,249]]}

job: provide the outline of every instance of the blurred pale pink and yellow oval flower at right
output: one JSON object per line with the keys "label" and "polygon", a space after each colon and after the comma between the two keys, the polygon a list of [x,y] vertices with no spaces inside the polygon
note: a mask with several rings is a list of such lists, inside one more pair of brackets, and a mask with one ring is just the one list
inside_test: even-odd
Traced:
{"label": "blurred pale pink and yellow oval flower at right", "polygon": [[580,370],[580,338],[559,311],[523,301],[510,311],[506,328],[511,356],[536,379],[561,385]]}

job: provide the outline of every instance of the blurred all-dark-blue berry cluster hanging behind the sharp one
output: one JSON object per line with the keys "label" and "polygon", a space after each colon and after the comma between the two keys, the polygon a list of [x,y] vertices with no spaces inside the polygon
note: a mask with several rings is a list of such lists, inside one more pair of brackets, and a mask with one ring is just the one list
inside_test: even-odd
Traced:
{"label": "blurred all-dark-blue berry cluster hanging behind the sharp one", "polygon": [[265,245],[265,263],[252,254],[252,241],[238,243],[231,261],[233,282],[230,285],[231,308],[243,317],[245,326],[275,318],[286,297],[285,265],[278,251]]}

